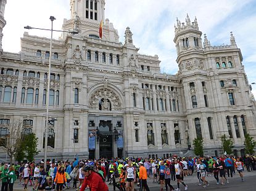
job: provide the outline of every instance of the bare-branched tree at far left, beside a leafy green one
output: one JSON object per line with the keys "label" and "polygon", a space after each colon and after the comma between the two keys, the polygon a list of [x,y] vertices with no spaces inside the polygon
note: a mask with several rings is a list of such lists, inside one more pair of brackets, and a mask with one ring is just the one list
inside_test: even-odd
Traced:
{"label": "bare-branched tree at far left, beside a leafy green one", "polygon": [[22,125],[22,120],[17,120],[7,126],[7,128],[9,128],[9,134],[7,134],[3,142],[3,146],[6,149],[7,155],[10,157],[10,163],[12,163],[13,157],[18,152],[23,142]]}

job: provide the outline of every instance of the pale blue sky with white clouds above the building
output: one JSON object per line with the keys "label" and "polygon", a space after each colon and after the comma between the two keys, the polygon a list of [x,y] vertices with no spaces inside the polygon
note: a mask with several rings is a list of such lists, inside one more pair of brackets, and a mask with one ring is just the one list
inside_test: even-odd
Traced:
{"label": "pale blue sky with white clouds above the building", "polygon": [[[23,26],[51,28],[49,17],[56,17],[54,29],[62,29],[70,18],[70,0],[7,0],[2,47],[5,52],[20,52]],[[256,1],[255,0],[105,0],[105,18],[118,30],[124,42],[127,26],[139,53],[159,55],[161,72],[176,74],[176,49],[173,42],[176,17],[185,22],[197,17],[199,29],[207,34],[211,45],[229,44],[233,31],[241,49],[249,83],[256,82]],[[49,32],[31,30],[31,35],[50,37]],[[55,33],[58,39],[60,34]],[[204,37],[202,36],[202,39]],[[252,85],[256,96],[256,85]]]}

